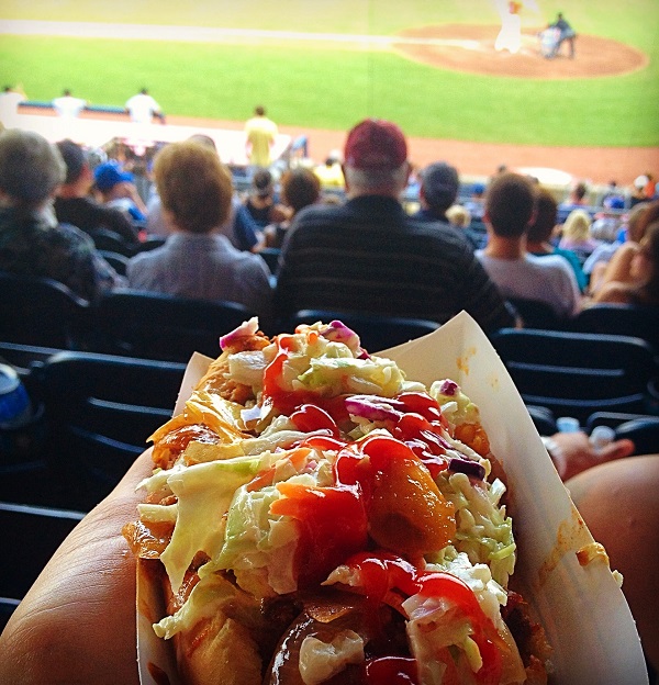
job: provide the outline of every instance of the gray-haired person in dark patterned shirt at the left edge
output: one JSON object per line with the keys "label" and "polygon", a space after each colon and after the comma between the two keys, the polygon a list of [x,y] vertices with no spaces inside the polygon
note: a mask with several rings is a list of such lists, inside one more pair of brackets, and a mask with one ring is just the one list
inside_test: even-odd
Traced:
{"label": "gray-haired person in dark patterned shirt at the left edge", "polygon": [[86,233],[57,224],[52,201],[65,178],[59,150],[43,136],[0,134],[0,270],[54,279],[91,302],[123,281]]}

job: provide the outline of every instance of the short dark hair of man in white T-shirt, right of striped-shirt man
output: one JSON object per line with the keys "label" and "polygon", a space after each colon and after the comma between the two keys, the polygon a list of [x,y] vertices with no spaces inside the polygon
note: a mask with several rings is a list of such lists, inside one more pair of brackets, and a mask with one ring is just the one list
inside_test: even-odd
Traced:
{"label": "short dark hair of man in white T-shirt, right of striped-shirt man", "polygon": [[492,180],[485,195],[485,214],[498,236],[524,235],[535,210],[536,189],[530,179],[505,171]]}

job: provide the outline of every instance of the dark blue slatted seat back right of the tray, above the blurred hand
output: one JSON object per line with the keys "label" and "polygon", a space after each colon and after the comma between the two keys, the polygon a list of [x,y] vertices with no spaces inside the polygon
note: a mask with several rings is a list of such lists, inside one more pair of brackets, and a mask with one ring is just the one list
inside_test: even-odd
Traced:
{"label": "dark blue slatted seat back right of the tray, above the blurred hand", "polygon": [[657,373],[654,350],[625,336],[505,328],[492,344],[527,404],[582,424],[601,411],[643,413]]}

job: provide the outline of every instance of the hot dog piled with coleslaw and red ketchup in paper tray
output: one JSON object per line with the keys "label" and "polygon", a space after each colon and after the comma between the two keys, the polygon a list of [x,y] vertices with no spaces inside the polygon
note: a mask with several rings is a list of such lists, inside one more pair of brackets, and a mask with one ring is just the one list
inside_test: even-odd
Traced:
{"label": "hot dog piled with coleslaw and red ketchup in paper tray", "polygon": [[124,535],[188,683],[543,683],[478,407],[340,322],[221,339]]}

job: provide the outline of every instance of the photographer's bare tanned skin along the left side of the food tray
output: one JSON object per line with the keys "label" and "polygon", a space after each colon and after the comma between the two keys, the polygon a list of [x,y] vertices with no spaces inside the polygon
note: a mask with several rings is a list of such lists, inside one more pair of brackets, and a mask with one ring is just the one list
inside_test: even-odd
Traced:
{"label": "photographer's bare tanned skin along the left side of the food tray", "polygon": [[135,559],[121,535],[150,449],[66,538],[0,636],[0,683],[137,685]]}

